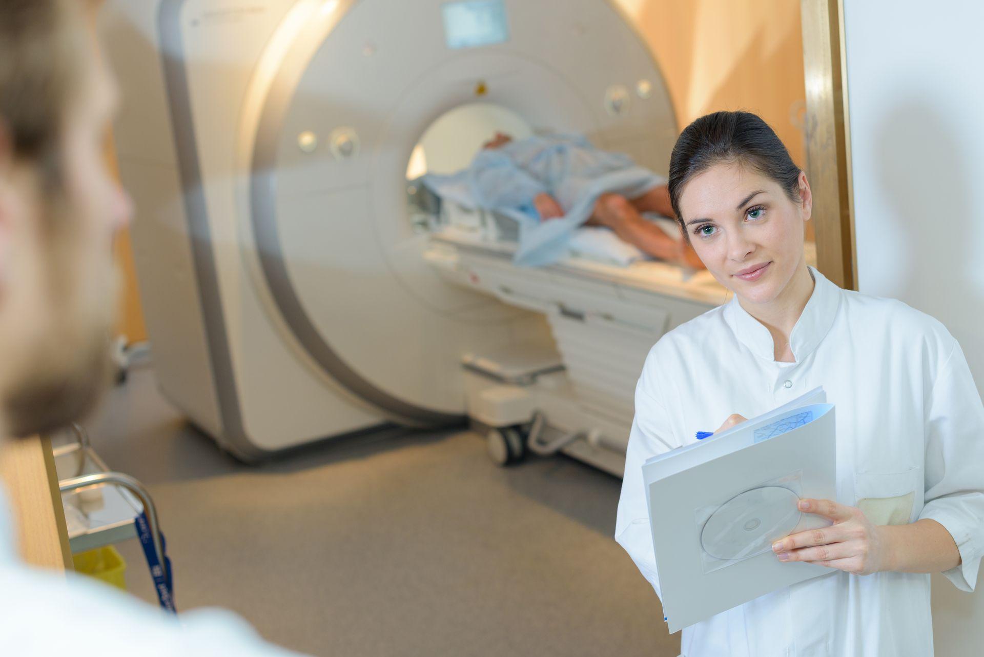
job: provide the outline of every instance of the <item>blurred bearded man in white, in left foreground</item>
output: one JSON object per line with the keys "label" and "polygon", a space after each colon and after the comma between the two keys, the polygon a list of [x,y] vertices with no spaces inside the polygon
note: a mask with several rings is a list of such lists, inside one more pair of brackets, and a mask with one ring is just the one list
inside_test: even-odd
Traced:
{"label": "blurred bearded man in white, in left foreground", "polygon": [[[0,443],[81,418],[109,379],[111,244],[131,205],[103,159],[117,90],[81,5],[0,0]],[[0,590],[5,655],[291,654],[231,613],[174,617],[28,566],[2,482]]]}

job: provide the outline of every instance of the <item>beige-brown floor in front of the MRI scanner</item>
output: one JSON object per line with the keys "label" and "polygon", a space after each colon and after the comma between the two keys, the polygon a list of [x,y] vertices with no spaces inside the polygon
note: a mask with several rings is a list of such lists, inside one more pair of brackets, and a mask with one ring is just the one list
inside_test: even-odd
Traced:
{"label": "beige-brown floor in front of the MRI scanner", "polygon": [[[621,482],[565,457],[498,469],[470,432],[394,432],[242,465],[135,370],[89,427],[159,506],[181,610],[227,607],[315,655],[675,656],[611,539]],[[151,600],[135,541],[128,584]]]}

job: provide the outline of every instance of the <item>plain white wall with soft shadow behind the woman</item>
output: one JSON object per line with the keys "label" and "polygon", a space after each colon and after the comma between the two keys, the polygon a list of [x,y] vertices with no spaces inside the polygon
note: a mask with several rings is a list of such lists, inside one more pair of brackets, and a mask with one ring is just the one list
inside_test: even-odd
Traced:
{"label": "plain white wall with soft shadow behind the woman", "polygon": [[[859,288],[940,319],[984,391],[981,26],[979,0],[844,0]],[[984,576],[934,575],[933,615],[937,655],[984,654]]]}

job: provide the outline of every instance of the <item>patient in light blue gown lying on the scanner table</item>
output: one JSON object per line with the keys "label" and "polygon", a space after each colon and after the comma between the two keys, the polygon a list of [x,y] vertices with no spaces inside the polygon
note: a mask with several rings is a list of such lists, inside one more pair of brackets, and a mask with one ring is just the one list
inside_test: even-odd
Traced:
{"label": "patient in light blue gown lying on the scanner table", "polygon": [[[541,224],[566,220],[613,230],[626,242],[661,260],[704,265],[684,239],[674,238],[642,213],[673,217],[665,180],[628,156],[599,151],[581,136],[530,137],[514,141],[498,132],[470,166],[478,205],[535,214]],[[558,227],[560,228],[560,227]],[[518,261],[541,260],[561,230],[532,227],[521,238]],[[542,238],[530,238],[542,232]],[[525,258],[523,257],[525,256]],[[535,263],[545,264],[545,263]]]}

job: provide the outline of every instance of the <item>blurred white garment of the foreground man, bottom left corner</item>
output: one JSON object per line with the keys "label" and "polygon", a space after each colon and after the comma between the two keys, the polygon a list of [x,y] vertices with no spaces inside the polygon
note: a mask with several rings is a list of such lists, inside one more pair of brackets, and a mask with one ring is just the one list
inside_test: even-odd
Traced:
{"label": "blurred white garment of the foreground man, bottom left corner", "polygon": [[0,655],[297,657],[230,612],[175,617],[83,575],[25,564],[2,488],[0,481]]}

